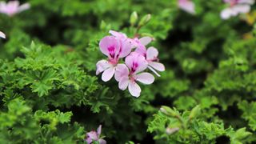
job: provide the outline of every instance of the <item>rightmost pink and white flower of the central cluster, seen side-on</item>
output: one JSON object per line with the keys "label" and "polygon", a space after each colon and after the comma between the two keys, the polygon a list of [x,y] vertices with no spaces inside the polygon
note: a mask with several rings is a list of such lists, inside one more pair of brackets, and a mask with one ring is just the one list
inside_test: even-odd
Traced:
{"label": "rightmost pink and white flower of the central cluster, seen side-on", "polygon": [[136,49],[136,52],[138,52],[138,54],[142,54],[145,58],[146,61],[148,62],[148,68],[154,72],[154,74],[156,74],[158,77],[160,77],[160,74],[158,74],[158,71],[164,71],[166,70],[165,66],[159,62],[158,59],[158,50],[156,48],[154,48],[153,46],[151,46],[150,48],[148,48],[146,50],[145,49]]}

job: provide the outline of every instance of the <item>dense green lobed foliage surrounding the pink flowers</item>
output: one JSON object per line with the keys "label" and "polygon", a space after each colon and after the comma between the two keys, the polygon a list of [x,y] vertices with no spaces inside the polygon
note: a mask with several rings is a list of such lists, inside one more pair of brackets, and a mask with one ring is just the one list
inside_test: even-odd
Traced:
{"label": "dense green lobed foliage surrounding the pink flowers", "polygon": [[[222,0],[24,2],[0,14],[0,143],[86,143],[99,125],[108,143],[256,142],[255,6],[224,20]],[[154,37],[166,70],[138,98],[95,74],[109,30]]]}

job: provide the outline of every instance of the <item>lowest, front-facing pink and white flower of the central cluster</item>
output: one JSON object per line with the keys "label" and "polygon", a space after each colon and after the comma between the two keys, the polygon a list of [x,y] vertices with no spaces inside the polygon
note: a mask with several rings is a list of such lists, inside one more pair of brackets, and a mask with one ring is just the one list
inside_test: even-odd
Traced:
{"label": "lowest, front-facing pink and white flower of the central cluster", "polygon": [[128,87],[130,94],[138,98],[142,90],[137,82],[149,85],[154,82],[154,76],[150,73],[140,73],[143,70],[146,70],[148,65],[145,57],[141,54],[132,52],[126,57],[125,63],[126,65],[120,64],[117,66],[115,78],[119,82],[118,87],[121,90],[126,90]]}

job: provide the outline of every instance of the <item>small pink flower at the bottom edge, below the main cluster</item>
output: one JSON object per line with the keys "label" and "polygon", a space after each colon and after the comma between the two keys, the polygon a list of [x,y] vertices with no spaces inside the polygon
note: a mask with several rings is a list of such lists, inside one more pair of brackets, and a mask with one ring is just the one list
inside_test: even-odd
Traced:
{"label": "small pink flower at the bottom edge, below the main cluster", "polygon": [[97,132],[96,131],[90,131],[86,134],[86,142],[87,144],[91,144],[94,141],[99,142],[99,144],[106,144],[106,141],[102,138],[100,138],[100,135],[102,133],[102,125],[98,126]]}

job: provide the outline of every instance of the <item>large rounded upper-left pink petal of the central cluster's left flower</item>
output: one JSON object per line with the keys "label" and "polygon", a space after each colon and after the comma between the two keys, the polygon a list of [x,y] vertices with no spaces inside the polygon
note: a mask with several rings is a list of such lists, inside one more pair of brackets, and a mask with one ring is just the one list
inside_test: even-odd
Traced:
{"label": "large rounded upper-left pink petal of the central cluster's left flower", "polygon": [[110,56],[109,48],[114,47],[114,52],[116,51],[119,52],[120,43],[113,36],[106,36],[102,38],[102,40],[99,42],[99,47],[102,53],[109,57]]}

